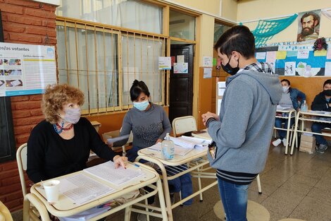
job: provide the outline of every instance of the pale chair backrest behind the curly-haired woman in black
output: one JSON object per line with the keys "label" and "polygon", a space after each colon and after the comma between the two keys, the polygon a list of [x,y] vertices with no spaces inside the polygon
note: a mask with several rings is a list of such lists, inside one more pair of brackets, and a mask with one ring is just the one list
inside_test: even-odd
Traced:
{"label": "pale chair backrest behind the curly-haired woman in black", "polygon": [[27,194],[24,172],[27,170],[27,143],[20,145],[16,152],[18,173],[20,174],[20,185],[22,186],[23,196]]}

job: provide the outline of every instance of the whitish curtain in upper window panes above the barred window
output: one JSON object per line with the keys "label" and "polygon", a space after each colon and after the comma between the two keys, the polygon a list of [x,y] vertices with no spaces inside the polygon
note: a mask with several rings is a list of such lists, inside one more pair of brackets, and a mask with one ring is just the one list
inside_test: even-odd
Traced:
{"label": "whitish curtain in upper window panes above the barred window", "polygon": [[163,8],[137,0],[62,1],[58,16],[162,33]]}

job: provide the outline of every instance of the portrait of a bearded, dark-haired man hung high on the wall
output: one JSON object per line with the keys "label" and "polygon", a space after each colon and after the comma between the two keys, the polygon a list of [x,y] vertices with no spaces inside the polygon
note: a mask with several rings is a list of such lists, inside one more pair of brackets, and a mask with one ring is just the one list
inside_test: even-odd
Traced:
{"label": "portrait of a bearded, dark-haired man hung high on the wall", "polygon": [[320,33],[320,10],[306,11],[298,16],[297,42],[317,40]]}

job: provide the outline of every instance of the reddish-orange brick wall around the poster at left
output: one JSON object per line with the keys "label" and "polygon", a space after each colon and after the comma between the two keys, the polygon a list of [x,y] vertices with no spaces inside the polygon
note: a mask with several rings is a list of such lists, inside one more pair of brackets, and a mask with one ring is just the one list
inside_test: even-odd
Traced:
{"label": "reddish-orange brick wall around the poster at left", "polygon": [[[0,0],[5,42],[56,44],[55,6],[30,0]],[[49,36],[48,42],[46,34]],[[42,95],[11,97],[16,148],[27,142],[32,128],[42,121]],[[27,186],[28,181],[25,174]],[[0,164],[0,201],[11,211],[23,208],[23,193],[16,161]]]}

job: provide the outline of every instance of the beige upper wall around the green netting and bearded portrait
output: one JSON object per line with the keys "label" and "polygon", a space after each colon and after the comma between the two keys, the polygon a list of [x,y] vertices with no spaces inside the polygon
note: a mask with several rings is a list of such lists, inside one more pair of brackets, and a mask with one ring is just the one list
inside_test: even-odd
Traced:
{"label": "beige upper wall around the green netting and bearded portrait", "polygon": [[[237,22],[258,20],[285,16],[303,11],[331,8],[330,0],[242,0],[238,2]],[[244,23],[251,30],[256,28],[257,22]],[[331,37],[331,20],[321,15],[320,36]],[[297,20],[288,28],[275,35],[268,43],[296,41],[298,32]]]}

